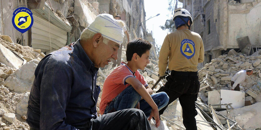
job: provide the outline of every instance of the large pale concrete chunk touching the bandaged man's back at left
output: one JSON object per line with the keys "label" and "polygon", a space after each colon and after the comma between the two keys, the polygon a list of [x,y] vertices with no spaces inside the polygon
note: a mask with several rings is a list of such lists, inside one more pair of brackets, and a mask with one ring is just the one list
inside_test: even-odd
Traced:
{"label": "large pale concrete chunk touching the bandaged man's back at left", "polygon": [[34,71],[38,63],[37,59],[33,59],[24,64],[5,80],[5,86],[19,93],[30,92],[34,80]]}

